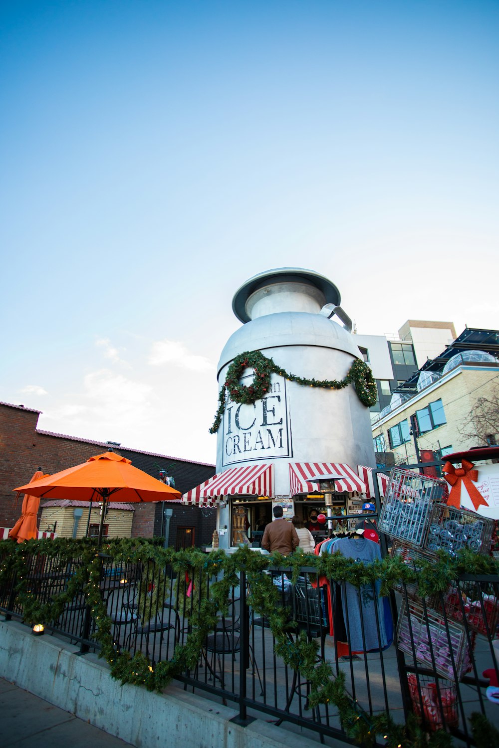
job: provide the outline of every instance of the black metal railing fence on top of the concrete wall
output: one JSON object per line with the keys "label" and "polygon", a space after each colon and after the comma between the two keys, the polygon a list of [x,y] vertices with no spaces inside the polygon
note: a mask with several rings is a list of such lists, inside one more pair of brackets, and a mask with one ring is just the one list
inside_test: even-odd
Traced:
{"label": "black metal railing fence on top of the concrete wall", "polygon": [[[174,572],[153,561],[100,555],[97,576],[85,577],[82,557],[25,551],[19,578],[19,566],[5,571],[7,553],[0,556],[0,610],[7,619],[25,618],[26,595],[50,606],[65,593],[47,628],[82,653],[98,651],[100,621],[89,604],[97,589],[116,651],[143,653],[151,669],[188,643],[202,601],[223,573]],[[280,635],[275,620],[256,612],[251,575],[240,569],[196,663],[176,675],[185,688],[236,704],[241,720],[263,716],[294,723],[322,742],[353,742],[346,708],[366,729],[384,712],[401,725],[412,712],[426,731],[445,729],[468,746],[475,744],[473,712],[498,723],[498,705],[488,698],[494,688],[487,691],[483,675],[489,670],[490,682],[499,683],[497,576],[468,574],[427,599],[402,582],[382,598],[377,583],[353,586],[320,577],[313,566],[302,566],[298,576],[290,568],[263,573],[278,593]],[[304,651],[312,653],[314,671],[325,668],[327,678],[344,684],[343,708],[333,699],[316,702],[310,659],[305,667],[301,661]],[[385,745],[383,735],[376,743]]]}

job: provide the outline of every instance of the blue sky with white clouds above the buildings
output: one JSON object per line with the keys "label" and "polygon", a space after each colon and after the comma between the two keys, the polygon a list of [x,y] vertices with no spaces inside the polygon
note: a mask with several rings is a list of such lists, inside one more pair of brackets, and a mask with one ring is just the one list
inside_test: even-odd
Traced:
{"label": "blue sky with white clouds above the buildings", "polygon": [[214,462],[233,292],[499,328],[499,3],[4,1],[0,400]]}

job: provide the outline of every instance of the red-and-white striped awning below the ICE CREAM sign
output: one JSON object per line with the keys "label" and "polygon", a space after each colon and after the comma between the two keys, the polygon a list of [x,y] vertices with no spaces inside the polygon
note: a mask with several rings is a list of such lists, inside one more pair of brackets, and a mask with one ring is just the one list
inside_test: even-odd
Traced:
{"label": "red-and-white striped awning below the ICE CREAM sign", "polygon": [[222,496],[272,496],[273,465],[247,465],[217,473],[183,494],[182,503],[214,506]]}

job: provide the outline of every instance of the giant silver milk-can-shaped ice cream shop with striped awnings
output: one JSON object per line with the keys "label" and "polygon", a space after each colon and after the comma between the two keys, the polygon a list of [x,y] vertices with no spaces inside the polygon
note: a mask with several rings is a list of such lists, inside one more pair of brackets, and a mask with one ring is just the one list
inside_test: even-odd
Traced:
{"label": "giant silver milk-can-shaped ice cream shop with striped awnings", "polygon": [[300,268],[260,273],[233,297],[242,326],[218,362],[216,473],[183,497],[218,507],[220,548],[257,546],[274,503],[305,522],[323,513],[331,530],[371,495],[376,384],[340,301]]}

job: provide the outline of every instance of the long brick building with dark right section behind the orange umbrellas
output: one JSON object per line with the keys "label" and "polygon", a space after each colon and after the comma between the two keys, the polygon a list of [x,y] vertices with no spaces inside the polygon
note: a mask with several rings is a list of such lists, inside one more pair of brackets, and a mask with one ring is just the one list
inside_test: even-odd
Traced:
{"label": "long brick building with dark right section behind the orange umbrellas", "polygon": [[[79,439],[37,429],[40,411],[23,405],[0,402],[0,527],[13,527],[19,518],[19,500],[12,489],[25,485],[40,468],[57,473],[105,452],[110,444]],[[159,477],[166,469],[175,487],[186,493],[215,473],[215,465],[179,459],[117,445],[115,452],[132,461],[135,468]],[[41,509],[40,507],[40,514]],[[133,505],[132,537],[162,536],[168,531],[168,545],[209,545],[215,529],[215,509],[183,506],[180,500]],[[166,512],[165,512],[166,510]],[[84,509],[85,512],[85,509]],[[39,515],[40,517],[40,515]]]}

